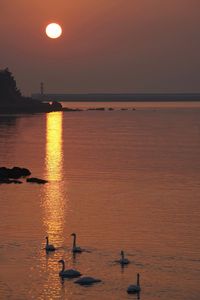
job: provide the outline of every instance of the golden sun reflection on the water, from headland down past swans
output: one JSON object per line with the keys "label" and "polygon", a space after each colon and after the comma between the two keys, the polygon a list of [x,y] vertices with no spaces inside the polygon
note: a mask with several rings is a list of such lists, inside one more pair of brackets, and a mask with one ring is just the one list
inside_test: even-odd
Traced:
{"label": "golden sun reflection on the water, from headland down past swans", "polygon": [[[44,186],[43,223],[50,243],[55,247],[63,247],[66,243],[64,235],[66,194],[63,181],[63,113],[46,114],[46,157],[45,178],[49,181]],[[43,245],[44,245],[43,241]],[[43,292],[39,300],[66,299],[71,291],[65,294],[58,276],[60,252],[46,254],[42,250],[41,272],[46,274],[43,282]]]}

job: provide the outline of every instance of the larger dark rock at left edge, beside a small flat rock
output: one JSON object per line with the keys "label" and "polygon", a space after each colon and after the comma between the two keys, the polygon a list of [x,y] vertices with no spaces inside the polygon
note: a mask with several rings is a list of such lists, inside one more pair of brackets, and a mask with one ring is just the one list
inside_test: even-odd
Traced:
{"label": "larger dark rock at left edge, beside a small flat rock", "polygon": [[29,175],[31,175],[31,172],[26,168],[13,167],[10,169],[6,167],[0,167],[0,179],[18,179]]}

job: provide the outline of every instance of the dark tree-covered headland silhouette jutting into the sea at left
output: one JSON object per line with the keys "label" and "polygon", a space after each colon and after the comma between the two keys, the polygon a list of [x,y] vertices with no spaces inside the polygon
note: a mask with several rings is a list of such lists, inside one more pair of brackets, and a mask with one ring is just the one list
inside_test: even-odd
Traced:
{"label": "dark tree-covered headland silhouette jutting into the sea at left", "polygon": [[22,96],[9,69],[0,70],[0,114],[40,113],[61,110],[62,105],[56,101],[45,103],[41,100]]}

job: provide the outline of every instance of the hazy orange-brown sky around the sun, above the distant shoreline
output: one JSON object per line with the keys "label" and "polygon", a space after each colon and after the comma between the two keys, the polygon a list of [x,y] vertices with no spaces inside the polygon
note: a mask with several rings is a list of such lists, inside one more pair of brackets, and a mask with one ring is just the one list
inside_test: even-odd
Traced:
{"label": "hazy orange-brown sky around the sun, above the distant shoreline", "polygon": [[0,63],[25,95],[200,92],[200,0],[0,0]]}

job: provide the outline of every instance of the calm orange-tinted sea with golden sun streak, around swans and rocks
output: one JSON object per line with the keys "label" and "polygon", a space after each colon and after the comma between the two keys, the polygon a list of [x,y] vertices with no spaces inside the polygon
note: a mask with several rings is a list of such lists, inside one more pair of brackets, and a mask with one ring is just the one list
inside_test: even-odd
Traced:
{"label": "calm orange-tinted sea with golden sun streak, around swans and rocks", "polygon": [[[200,104],[105,105],[0,117],[0,166],[49,180],[0,185],[0,299],[137,299],[137,273],[142,300],[200,299]],[[62,282],[59,259],[102,283]]]}

